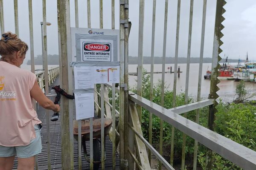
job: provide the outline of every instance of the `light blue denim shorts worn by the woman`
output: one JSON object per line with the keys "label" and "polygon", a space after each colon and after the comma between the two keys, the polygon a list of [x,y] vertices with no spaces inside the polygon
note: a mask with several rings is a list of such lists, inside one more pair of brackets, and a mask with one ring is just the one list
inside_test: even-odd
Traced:
{"label": "light blue denim shorts worn by the woman", "polygon": [[35,139],[26,146],[15,146],[6,147],[0,145],[0,157],[10,157],[17,155],[18,158],[29,158],[41,153],[42,142],[41,142],[41,131],[38,125],[34,126],[35,129]]}

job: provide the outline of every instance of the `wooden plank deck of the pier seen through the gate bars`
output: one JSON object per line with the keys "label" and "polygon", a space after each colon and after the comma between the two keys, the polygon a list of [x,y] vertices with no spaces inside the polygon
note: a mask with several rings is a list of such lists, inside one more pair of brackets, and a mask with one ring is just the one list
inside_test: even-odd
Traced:
{"label": "wooden plank deck of the pier seen through the gate bars", "polygon": [[[52,86],[59,85],[59,79],[56,79]],[[38,108],[38,107],[37,107]],[[39,107],[37,109],[38,118],[43,122],[42,128],[42,153],[38,154],[38,170],[48,170],[47,162],[47,128],[46,128],[46,113],[45,109]],[[53,112],[49,112],[50,118]],[[61,114],[60,114],[61,116]],[[61,117],[56,122],[50,122],[50,143],[51,143],[51,169],[61,170]],[[90,153],[90,142],[86,142],[87,153]],[[112,170],[112,143],[108,136],[106,136],[105,143],[106,150],[106,160],[105,160],[105,170]],[[90,170],[90,163],[88,163],[84,158],[84,153],[82,150],[82,170]],[[74,169],[78,170],[78,142],[74,139]],[[99,167],[101,169],[101,165]],[[17,158],[15,159],[15,164],[13,170],[17,170]],[[116,152],[116,170],[119,170],[119,154]]]}

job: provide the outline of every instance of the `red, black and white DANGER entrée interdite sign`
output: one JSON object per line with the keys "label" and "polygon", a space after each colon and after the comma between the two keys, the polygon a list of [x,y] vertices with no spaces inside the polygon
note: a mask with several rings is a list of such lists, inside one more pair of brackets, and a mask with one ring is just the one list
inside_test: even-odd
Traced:
{"label": "red, black and white DANGER entr\u00e9e interdite sign", "polygon": [[111,43],[82,42],[83,61],[111,61]]}

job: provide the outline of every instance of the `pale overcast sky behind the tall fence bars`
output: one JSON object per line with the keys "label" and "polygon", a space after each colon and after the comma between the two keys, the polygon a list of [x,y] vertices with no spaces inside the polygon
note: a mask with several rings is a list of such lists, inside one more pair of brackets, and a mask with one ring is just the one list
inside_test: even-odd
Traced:
{"label": "pale overcast sky behind the tall fence bars", "polygon": [[[87,27],[87,6],[85,0],[79,1],[79,27]],[[119,29],[119,0],[115,1],[116,29]],[[138,55],[138,28],[139,28],[139,0],[129,0],[129,20],[132,22],[129,37],[129,55]],[[153,0],[145,0],[143,56],[151,55],[151,28],[152,28],[152,4]],[[177,0],[169,0],[167,34],[163,35],[165,0],[157,0],[156,8],[156,33],[155,33],[155,56],[163,54],[163,36],[167,36],[166,57],[175,55],[175,34],[177,19]],[[180,13],[180,43],[179,57],[187,56],[188,24],[189,24],[190,0],[181,0]],[[12,0],[3,0],[5,31],[15,32],[14,7]],[[29,13],[28,0],[18,0],[19,32],[20,38],[29,44]],[[206,34],[204,57],[212,57],[213,31],[215,21],[216,0],[208,0],[206,17]],[[255,0],[227,0],[224,7],[224,54],[229,58],[245,58],[248,51],[249,59],[256,60],[256,1]],[[111,28],[111,0],[103,0],[103,27]],[[203,0],[194,0],[194,16],[192,28],[191,57],[199,57],[201,24],[202,24]],[[99,0],[91,0],[92,28],[99,28]],[[75,27],[74,0],[70,0],[71,27]],[[42,54],[41,49],[41,25],[42,2],[33,0],[33,29],[35,57]],[[57,26],[57,0],[47,1],[47,47],[48,54],[58,54],[58,26]],[[28,52],[27,58],[30,58]]]}

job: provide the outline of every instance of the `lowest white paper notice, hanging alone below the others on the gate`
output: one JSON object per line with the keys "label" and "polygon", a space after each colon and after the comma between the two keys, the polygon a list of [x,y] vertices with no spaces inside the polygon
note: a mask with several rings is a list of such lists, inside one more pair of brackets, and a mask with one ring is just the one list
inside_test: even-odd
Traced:
{"label": "lowest white paper notice, hanging alone below the others on the gate", "polygon": [[76,120],[94,117],[93,93],[75,94]]}

